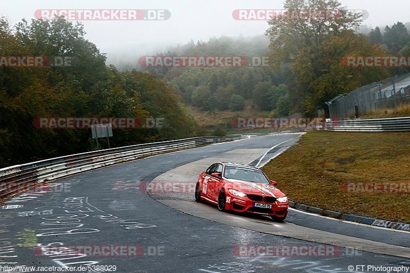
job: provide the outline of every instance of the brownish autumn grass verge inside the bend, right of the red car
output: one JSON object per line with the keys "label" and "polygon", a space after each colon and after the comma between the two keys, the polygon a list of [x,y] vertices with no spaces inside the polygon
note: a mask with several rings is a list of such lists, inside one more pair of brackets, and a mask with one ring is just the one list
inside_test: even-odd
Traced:
{"label": "brownish autumn grass verge inside the bend, right of the red car", "polygon": [[409,182],[410,133],[309,132],[262,169],[292,201],[410,223],[410,188],[406,193],[342,190],[343,182]]}

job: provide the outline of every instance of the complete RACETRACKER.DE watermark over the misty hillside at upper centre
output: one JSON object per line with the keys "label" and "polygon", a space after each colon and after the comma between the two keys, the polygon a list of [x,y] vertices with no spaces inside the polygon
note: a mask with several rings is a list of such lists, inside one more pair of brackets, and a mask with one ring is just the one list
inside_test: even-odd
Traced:
{"label": "complete RACETRACKER.DE watermark over the misty hillside at upper centre", "polygon": [[141,56],[141,67],[267,67],[267,56]]}

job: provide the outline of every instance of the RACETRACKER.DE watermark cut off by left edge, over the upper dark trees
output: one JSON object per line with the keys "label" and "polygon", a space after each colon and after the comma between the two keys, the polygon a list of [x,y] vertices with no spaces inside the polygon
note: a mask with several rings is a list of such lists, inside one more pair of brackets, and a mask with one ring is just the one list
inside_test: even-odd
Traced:
{"label": "RACETRACKER.DE watermark cut off by left edge, over the upper dark trees", "polygon": [[0,56],[0,67],[72,67],[73,57],[68,56]]}

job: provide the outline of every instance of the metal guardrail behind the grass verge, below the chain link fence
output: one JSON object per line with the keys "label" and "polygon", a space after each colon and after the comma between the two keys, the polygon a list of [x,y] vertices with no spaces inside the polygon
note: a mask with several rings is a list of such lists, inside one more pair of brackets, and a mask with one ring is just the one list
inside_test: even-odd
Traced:
{"label": "metal guardrail behind the grass verge, below the chain link fence", "polygon": [[305,131],[314,130],[341,132],[407,132],[410,131],[410,117],[334,120],[311,124],[305,128]]}

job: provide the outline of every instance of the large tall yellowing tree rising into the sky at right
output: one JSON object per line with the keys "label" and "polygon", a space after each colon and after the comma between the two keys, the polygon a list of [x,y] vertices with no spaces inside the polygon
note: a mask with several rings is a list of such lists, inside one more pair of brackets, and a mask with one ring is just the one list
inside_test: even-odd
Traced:
{"label": "large tall yellowing tree rising into the sky at right", "polygon": [[[284,7],[290,10],[340,12],[336,19],[269,21],[266,33],[271,39],[270,59],[274,62],[273,68],[291,65],[292,77],[288,86],[294,86],[290,90],[297,90],[297,93],[290,93],[289,99],[291,102],[297,101],[306,115],[314,115],[318,108],[323,108],[325,114],[329,115],[324,103],[326,100],[345,92],[346,88],[353,90],[370,83],[374,78],[386,76],[387,73],[382,69],[377,72],[358,70],[340,64],[340,60],[349,54],[382,53],[355,32],[362,22],[360,14],[348,12],[334,0],[286,0]],[[368,75],[373,76],[367,78]],[[299,106],[293,105],[292,108],[298,109]]]}

